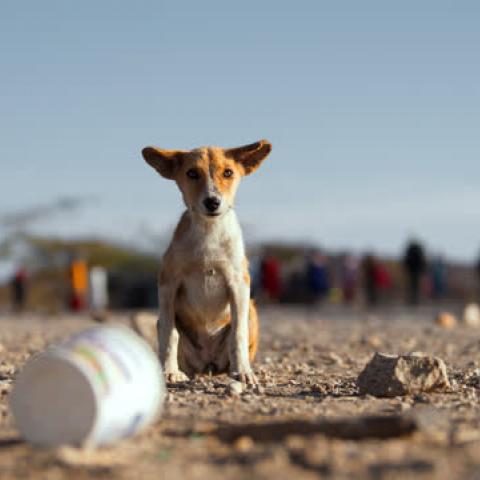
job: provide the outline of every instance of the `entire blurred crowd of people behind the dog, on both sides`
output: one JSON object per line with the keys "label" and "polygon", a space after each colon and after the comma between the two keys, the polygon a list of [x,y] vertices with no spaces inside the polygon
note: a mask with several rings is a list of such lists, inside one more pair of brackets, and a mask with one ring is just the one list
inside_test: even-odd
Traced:
{"label": "entire blurred crowd of people behind the dog, on both sides", "polygon": [[[285,252],[283,252],[285,253]],[[119,272],[89,262],[70,253],[63,273],[54,289],[60,308],[72,311],[106,308],[154,308],[155,278],[150,273],[123,269]],[[474,268],[475,299],[480,296],[480,257]],[[375,307],[403,301],[409,305],[458,298],[454,293],[451,266],[441,255],[428,255],[418,240],[410,240],[400,259],[380,258],[372,252],[363,256],[350,253],[327,255],[320,249],[292,248],[290,256],[264,247],[251,255],[252,296],[260,303],[344,303]],[[30,276],[20,265],[11,278],[11,303],[20,311],[25,308]],[[33,282],[32,282],[33,283]],[[38,282],[37,282],[38,283]],[[470,282],[471,283],[471,282]],[[458,290],[458,289],[457,289]],[[62,307],[63,306],[63,307]]]}

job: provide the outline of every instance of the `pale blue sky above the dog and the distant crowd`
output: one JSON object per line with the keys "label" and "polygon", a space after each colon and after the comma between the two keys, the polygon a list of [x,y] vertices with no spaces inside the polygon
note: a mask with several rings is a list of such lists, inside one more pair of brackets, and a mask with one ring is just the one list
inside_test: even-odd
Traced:
{"label": "pale blue sky above the dog and the distant crowd", "polygon": [[[0,10],[0,211],[92,198],[38,231],[141,240],[182,210],[145,145],[268,138],[249,240],[480,249],[480,4],[13,1]],[[143,232],[143,233],[142,233]]]}

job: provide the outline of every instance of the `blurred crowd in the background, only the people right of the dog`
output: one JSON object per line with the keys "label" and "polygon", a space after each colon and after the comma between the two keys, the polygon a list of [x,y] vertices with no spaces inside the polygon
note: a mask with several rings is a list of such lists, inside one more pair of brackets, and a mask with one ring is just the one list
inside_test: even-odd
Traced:
{"label": "blurred crowd in the background, only the people right of the dog", "polygon": [[[478,296],[480,257],[474,270]],[[374,307],[403,298],[408,305],[418,305],[447,299],[453,292],[452,275],[443,256],[428,256],[422,243],[414,239],[407,243],[400,262],[382,260],[372,252],[363,257],[349,253],[328,256],[311,249],[304,255],[301,269],[297,265],[292,271],[278,256],[268,253],[252,263],[251,274],[254,296],[267,302],[361,302]]]}

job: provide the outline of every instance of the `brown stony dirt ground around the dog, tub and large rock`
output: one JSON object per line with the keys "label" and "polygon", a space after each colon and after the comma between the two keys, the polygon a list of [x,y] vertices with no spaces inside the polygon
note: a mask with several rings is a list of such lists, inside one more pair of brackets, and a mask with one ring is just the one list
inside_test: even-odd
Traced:
{"label": "brown stony dirt ground around the dog, tub and large rock", "polygon": [[[265,308],[260,388],[232,396],[226,376],[199,377],[169,388],[160,420],[134,438],[42,451],[14,428],[15,372],[92,320],[0,315],[0,479],[480,478],[480,330],[445,330],[432,317],[429,309]],[[438,355],[452,388],[362,397],[356,378],[375,351]]]}

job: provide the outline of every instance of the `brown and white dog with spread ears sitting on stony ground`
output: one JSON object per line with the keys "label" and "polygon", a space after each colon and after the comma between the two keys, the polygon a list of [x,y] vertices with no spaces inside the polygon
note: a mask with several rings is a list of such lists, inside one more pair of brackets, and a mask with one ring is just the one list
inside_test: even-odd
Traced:
{"label": "brown and white dog with spread ears sitting on stony ground", "polygon": [[150,166],[177,183],[187,206],[158,277],[159,355],[170,383],[227,371],[256,383],[250,362],[257,351],[258,318],[233,207],[241,178],[271,149],[260,140],[238,148],[142,150]]}

